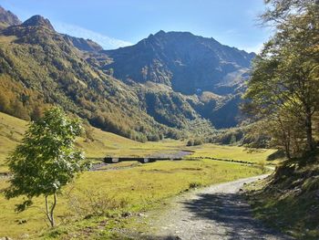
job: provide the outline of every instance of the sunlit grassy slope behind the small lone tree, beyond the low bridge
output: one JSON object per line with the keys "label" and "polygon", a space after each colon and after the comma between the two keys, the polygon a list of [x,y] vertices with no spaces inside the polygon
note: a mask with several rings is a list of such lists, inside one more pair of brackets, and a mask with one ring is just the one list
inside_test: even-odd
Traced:
{"label": "sunlit grassy slope behind the small lone tree, beyond the low bridge", "polygon": [[[0,172],[7,172],[5,158],[21,141],[26,128],[26,120],[0,112]],[[172,140],[141,143],[96,128],[90,128],[90,135],[92,140],[87,137],[77,139],[77,147],[83,149],[88,158],[149,156],[158,152],[179,151],[185,146],[183,141]]]}

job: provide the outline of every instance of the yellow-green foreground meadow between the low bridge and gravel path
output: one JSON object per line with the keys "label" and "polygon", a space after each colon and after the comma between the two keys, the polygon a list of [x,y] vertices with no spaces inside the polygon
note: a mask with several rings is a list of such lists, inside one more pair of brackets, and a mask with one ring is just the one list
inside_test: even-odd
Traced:
{"label": "yellow-green foreground meadow between the low bridge and gravel path", "polygon": [[[147,234],[149,226],[140,222],[140,214],[164,209],[174,196],[195,187],[262,173],[260,167],[212,160],[131,162],[129,168],[123,169],[117,164],[116,170],[85,172],[67,186],[58,196],[58,226],[53,231],[47,231],[44,215],[39,211],[43,207],[42,198],[35,199],[35,207],[16,214],[15,204],[21,199],[7,201],[0,194],[3,226],[0,237],[123,239],[123,231],[128,231],[129,236],[139,232]],[[5,179],[0,180],[0,190],[6,185]]]}

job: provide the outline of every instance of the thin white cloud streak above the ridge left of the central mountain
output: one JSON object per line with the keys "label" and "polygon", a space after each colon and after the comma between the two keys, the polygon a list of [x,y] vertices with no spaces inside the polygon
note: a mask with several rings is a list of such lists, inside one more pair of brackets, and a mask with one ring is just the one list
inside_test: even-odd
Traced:
{"label": "thin white cloud streak above the ridge left of the central mountain", "polygon": [[60,22],[54,22],[52,23],[52,25],[59,33],[67,34],[72,37],[83,37],[85,39],[91,39],[97,42],[104,49],[115,49],[118,47],[127,47],[132,45],[132,43],[129,43],[127,41],[104,36],[81,26],[69,25]]}

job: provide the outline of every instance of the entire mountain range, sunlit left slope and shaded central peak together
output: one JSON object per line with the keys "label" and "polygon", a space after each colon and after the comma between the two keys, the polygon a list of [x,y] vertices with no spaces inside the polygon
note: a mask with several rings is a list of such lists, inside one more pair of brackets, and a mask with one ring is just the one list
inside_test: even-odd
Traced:
{"label": "entire mountain range, sunlit left slope and shaded central peak together", "polygon": [[164,32],[103,50],[24,23],[0,8],[0,110],[36,119],[59,105],[91,125],[138,141],[211,134],[236,126],[253,53],[188,32]]}

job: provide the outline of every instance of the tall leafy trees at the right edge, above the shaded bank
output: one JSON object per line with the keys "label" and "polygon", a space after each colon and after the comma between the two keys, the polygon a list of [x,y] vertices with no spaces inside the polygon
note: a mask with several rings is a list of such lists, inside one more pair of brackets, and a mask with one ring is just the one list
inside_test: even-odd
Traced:
{"label": "tall leafy trees at the right edge, above the shaded bank", "polygon": [[[319,106],[319,4],[269,0],[262,16],[276,32],[256,57],[248,82],[246,110],[274,128],[288,157],[314,151],[313,119]],[[280,141],[277,141],[280,142]]]}

